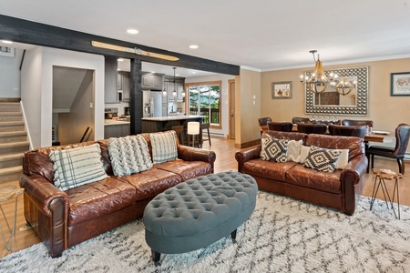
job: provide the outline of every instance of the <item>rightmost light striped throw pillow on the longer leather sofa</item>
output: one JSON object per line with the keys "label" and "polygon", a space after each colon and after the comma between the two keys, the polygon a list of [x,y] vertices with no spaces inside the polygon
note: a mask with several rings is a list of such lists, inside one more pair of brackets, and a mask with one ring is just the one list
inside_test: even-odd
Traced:
{"label": "rightmost light striped throw pillow on the longer leather sofa", "polygon": [[178,158],[176,136],[175,131],[149,134],[154,164]]}

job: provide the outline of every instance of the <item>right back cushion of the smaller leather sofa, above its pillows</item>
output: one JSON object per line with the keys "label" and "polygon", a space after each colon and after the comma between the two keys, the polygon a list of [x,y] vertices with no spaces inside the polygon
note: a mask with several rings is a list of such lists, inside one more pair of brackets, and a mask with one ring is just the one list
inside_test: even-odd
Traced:
{"label": "right back cushion of the smaller leather sofa, above its pillows", "polygon": [[364,154],[363,138],[357,136],[328,136],[309,134],[306,136],[306,146],[316,146],[328,149],[349,149],[349,160]]}

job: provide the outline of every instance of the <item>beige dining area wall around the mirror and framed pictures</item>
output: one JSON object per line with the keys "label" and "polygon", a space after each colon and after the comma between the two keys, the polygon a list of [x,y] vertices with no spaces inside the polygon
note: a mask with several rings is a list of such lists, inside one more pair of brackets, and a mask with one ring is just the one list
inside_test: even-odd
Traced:
{"label": "beige dining area wall around the mirror and framed pictures", "polygon": [[[369,67],[368,115],[337,116],[340,119],[372,119],[374,129],[394,131],[400,123],[410,124],[410,96],[390,96],[390,74],[410,72],[410,58],[355,63],[330,68],[354,66]],[[261,116],[271,116],[272,120],[291,121],[293,116],[309,116],[304,114],[304,93],[300,76],[312,69],[288,69],[261,73]],[[292,99],[272,99],[272,82],[292,81]],[[245,102],[247,104],[248,102]],[[254,121],[256,124],[257,122]]]}

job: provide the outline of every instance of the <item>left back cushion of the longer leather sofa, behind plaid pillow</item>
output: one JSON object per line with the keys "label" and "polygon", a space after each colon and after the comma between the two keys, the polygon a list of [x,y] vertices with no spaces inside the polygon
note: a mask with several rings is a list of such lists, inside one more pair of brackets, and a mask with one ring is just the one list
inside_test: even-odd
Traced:
{"label": "left back cushion of the longer leather sofa, behind plaid pillow", "polygon": [[23,173],[27,176],[42,176],[50,182],[53,182],[53,162],[48,157],[51,151],[70,149],[75,147],[87,147],[95,144],[95,141],[87,141],[82,143],[53,146],[53,147],[39,147],[25,153],[23,157]]}

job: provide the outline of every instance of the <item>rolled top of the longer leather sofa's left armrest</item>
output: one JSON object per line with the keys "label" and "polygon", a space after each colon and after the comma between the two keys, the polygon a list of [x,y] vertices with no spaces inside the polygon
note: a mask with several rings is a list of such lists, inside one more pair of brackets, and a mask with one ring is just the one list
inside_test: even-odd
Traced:
{"label": "rolled top of the longer leather sofa's left armrest", "polygon": [[[29,177],[23,174],[20,177],[20,187],[25,188],[26,195],[31,199],[34,205],[47,217],[53,217],[53,212],[56,210],[56,207],[54,207],[55,205],[52,204],[64,204],[62,210],[65,211],[65,218],[67,219],[67,193],[58,189],[45,177]],[[63,200],[63,202],[53,202],[56,199],[61,199]]]}

